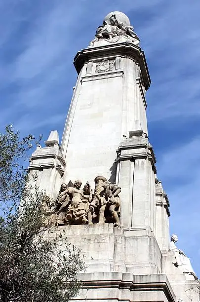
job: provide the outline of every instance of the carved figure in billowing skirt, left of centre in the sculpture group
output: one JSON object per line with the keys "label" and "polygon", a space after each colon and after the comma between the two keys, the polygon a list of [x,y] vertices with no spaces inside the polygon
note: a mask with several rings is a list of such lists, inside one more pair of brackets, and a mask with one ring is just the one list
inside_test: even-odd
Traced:
{"label": "carved figure in billowing skirt, left of centre in the sculpture group", "polygon": [[76,180],[74,183],[74,188],[70,187],[67,189],[72,198],[66,214],[67,224],[70,225],[81,225],[88,223],[85,203],[83,203],[81,200],[81,197],[84,196],[80,190],[81,185],[82,182],[80,180]]}

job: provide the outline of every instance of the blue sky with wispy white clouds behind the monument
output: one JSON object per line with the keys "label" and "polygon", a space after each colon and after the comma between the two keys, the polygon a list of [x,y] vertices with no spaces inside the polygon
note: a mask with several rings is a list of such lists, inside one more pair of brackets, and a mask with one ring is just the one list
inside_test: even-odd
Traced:
{"label": "blue sky with wispy white clouds behind the monument", "polygon": [[200,1],[0,0],[0,131],[62,136],[73,58],[107,13],[128,15],[149,67],[149,138],[171,232],[200,277]]}

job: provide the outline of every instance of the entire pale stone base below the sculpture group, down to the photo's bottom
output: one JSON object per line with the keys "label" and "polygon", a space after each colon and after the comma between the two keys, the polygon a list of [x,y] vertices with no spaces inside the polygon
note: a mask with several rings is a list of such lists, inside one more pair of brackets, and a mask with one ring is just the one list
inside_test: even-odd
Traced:
{"label": "entire pale stone base below the sculpture group, down to the photo's bottom", "polygon": [[50,235],[63,229],[68,242],[82,250],[87,267],[79,274],[84,286],[75,301],[198,301],[199,295],[190,290],[198,281],[172,264],[173,253],[161,254],[149,227],[63,226],[54,227]]}

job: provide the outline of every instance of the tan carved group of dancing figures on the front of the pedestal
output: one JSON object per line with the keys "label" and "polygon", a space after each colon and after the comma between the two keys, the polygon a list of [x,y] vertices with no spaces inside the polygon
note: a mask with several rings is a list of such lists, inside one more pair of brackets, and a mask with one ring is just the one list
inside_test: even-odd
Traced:
{"label": "tan carved group of dancing figures on the front of the pedestal", "polygon": [[94,190],[88,182],[80,189],[80,180],[61,185],[52,214],[56,225],[113,223],[120,226],[121,189],[103,176],[97,176],[94,182]]}

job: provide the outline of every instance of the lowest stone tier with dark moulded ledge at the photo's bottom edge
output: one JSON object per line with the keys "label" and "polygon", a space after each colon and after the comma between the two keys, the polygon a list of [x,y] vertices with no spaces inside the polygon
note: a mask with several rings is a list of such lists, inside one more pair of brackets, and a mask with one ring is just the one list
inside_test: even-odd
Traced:
{"label": "lowest stone tier with dark moulded ledge at the photo's bottom edge", "polygon": [[92,302],[175,302],[176,298],[165,274],[80,273],[83,281],[80,296],[73,301]]}

